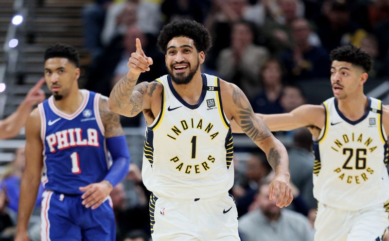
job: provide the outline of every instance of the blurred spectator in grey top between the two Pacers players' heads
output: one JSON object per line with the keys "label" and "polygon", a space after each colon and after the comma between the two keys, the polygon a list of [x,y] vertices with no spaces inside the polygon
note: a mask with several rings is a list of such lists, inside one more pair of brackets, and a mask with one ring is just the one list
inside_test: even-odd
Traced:
{"label": "blurred spectator in grey top between the two Pacers players' heads", "polygon": [[260,92],[260,69],[269,58],[265,47],[254,44],[255,29],[251,22],[240,20],[232,25],[231,44],[217,58],[220,78],[238,85],[252,98]]}

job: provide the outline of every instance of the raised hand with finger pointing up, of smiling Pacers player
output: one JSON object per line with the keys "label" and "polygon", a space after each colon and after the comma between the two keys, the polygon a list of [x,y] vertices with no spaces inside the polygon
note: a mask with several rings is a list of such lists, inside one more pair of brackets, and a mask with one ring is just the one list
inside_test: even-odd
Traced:
{"label": "raised hand with finger pointing up, of smiling Pacers player", "polygon": [[137,50],[134,53],[131,53],[127,66],[130,73],[140,75],[141,73],[150,70],[149,66],[153,64],[153,59],[144,54],[139,38],[136,39],[136,48]]}

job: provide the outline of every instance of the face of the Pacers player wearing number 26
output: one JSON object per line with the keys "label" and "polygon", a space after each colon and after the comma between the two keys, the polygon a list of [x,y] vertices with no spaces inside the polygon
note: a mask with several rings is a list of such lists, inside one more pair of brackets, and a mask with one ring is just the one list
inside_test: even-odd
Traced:
{"label": "face of the Pacers player wearing number 26", "polygon": [[348,62],[333,61],[331,64],[331,85],[337,99],[345,99],[363,92],[368,74],[361,67]]}

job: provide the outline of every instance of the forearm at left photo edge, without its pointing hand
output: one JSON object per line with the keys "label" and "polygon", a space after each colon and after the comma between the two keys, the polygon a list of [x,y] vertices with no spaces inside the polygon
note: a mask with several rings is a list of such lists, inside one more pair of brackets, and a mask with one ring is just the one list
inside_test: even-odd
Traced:
{"label": "forearm at left photo edge, without its pointing hand", "polygon": [[10,116],[0,122],[0,139],[12,138],[18,135],[20,129],[26,123],[32,106],[25,100],[18,106],[18,109]]}

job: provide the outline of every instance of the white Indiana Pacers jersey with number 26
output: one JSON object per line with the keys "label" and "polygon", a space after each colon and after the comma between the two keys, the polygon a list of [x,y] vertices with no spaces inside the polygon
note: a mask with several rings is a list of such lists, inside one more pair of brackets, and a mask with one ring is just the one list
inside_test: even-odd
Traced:
{"label": "white Indiana Pacers jersey with number 26", "polygon": [[338,209],[358,210],[388,201],[388,146],[381,101],[368,97],[356,121],[338,109],[336,98],[323,102],[325,128],[314,142],[315,198]]}

